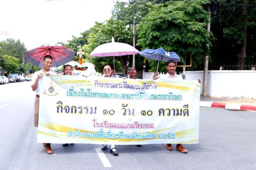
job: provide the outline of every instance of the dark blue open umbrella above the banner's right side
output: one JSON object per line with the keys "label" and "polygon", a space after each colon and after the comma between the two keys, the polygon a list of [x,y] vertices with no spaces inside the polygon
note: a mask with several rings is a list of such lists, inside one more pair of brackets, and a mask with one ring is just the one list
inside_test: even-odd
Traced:
{"label": "dark blue open umbrella above the banner's right side", "polygon": [[180,61],[180,57],[175,52],[167,52],[162,47],[160,47],[159,49],[144,49],[143,51],[139,52],[139,54],[143,57],[150,58],[152,60],[158,60],[157,71],[159,61]]}

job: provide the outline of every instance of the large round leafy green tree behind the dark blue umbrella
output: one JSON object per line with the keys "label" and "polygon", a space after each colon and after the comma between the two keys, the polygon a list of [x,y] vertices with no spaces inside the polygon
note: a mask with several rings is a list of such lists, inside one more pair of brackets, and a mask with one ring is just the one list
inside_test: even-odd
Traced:
{"label": "large round leafy green tree behind the dark blue umbrella", "polygon": [[[192,55],[192,68],[202,66],[204,56],[211,46],[211,33],[206,26],[209,13],[204,9],[209,0],[169,1],[157,4],[138,25],[138,45],[143,49],[163,47],[176,52],[183,64]],[[165,63],[160,62],[159,71],[165,72]],[[157,61],[150,61],[152,71],[157,70]]]}

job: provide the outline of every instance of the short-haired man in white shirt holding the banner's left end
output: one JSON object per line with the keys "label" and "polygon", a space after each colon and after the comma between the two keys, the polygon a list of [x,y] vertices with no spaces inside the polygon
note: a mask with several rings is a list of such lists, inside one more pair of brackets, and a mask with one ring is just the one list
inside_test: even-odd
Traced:
{"label": "short-haired man in white shirt holding the banner's left end", "polygon": [[[52,67],[52,56],[46,55],[44,56],[44,60],[42,61],[44,67],[43,69],[37,71],[34,73],[32,76],[32,81],[31,81],[31,87],[33,91],[36,91],[36,97],[35,97],[35,115],[34,115],[34,126],[38,127],[38,115],[39,115],[39,86],[40,86],[40,81],[41,77],[44,75],[52,74],[53,72],[50,71],[50,68]],[[51,144],[46,144],[43,143],[43,145],[46,147],[46,153],[47,154],[52,154],[53,150],[51,148]]]}

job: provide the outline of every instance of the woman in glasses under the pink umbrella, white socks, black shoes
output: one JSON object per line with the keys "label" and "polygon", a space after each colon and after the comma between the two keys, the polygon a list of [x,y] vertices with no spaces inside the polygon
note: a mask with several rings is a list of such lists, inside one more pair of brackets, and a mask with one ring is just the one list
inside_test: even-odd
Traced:
{"label": "woman in glasses under the pink umbrella, white socks, black shoes", "polygon": [[[108,78],[115,78],[116,77],[116,71],[112,69],[112,66],[111,64],[105,64],[103,66],[103,77],[108,77]],[[113,73],[113,74],[112,74]],[[103,144],[102,145],[102,150],[106,150],[107,149],[107,144]],[[111,145],[111,148],[110,148],[110,153],[113,154],[113,155],[118,155],[118,152],[115,148],[115,145]]]}

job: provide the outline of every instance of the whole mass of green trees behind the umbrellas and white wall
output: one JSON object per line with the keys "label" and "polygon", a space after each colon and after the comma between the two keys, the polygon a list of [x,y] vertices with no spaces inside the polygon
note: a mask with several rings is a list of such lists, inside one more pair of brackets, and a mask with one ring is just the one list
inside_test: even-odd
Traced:
{"label": "whole mass of green trees behind the umbrellas and white wall", "polygon": [[[179,64],[182,65],[188,65],[192,55],[192,67],[187,70],[204,69],[205,55],[209,55],[210,61],[237,61],[246,52],[246,60],[255,61],[256,8],[253,6],[255,1],[129,0],[128,3],[118,1],[110,20],[104,23],[96,22],[92,28],[81,33],[82,37],[73,37],[67,46],[77,51],[77,46],[81,45],[85,52],[84,61],[93,63],[96,70],[101,72],[103,64],[113,64],[113,57],[99,58],[88,55],[100,44],[111,42],[111,37],[114,37],[116,42],[131,45],[135,20],[136,48],[139,51],[163,47],[167,51],[176,52],[181,57],[182,63]],[[207,12],[208,7],[211,12]],[[247,7],[247,15],[244,15],[244,7]],[[207,32],[210,16],[211,32]],[[247,22],[244,20],[246,16]],[[247,28],[244,27],[245,25]],[[131,56],[115,59],[115,68],[118,72],[127,71],[127,67],[132,63]],[[157,61],[136,55],[136,67],[139,71],[143,69],[143,65],[155,71]],[[160,62],[159,70],[161,72],[166,70],[164,62]]]}

